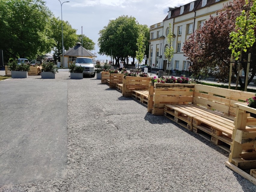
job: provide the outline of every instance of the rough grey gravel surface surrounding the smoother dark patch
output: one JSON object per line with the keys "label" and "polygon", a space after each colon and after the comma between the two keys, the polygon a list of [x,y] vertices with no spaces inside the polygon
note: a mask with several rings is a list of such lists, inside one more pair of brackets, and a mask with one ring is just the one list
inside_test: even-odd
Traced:
{"label": "rough grey gravel surface surrounding the smoother dark patch", "polygon": [[0,184],[0,191],[256,191],[224,165],[227,152],[100,80],[59,72],[6,81],[67,82],[67,170],[49,181]]}

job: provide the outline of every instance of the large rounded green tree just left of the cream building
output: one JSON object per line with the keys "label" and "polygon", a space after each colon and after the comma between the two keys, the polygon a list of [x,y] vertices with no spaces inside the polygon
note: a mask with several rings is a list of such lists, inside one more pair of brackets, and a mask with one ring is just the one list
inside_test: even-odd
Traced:
{"label": "large rounded green tree just left of the cream building", "polygon": [[145,34],[145,39],[149,39],[149,29],[140,25],[134,17],[123,15],[110,20],[108,25],[99,31],[99,54],[110,56],[112,50],[116,62],[128,56],[136,57],[136,43],[141,30]]}

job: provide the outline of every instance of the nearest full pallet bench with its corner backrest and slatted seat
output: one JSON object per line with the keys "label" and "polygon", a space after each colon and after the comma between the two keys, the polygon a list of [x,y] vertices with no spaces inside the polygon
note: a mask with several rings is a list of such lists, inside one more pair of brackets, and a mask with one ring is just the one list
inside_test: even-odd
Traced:
{"label": "nearest full pallet bench with its corner backrest and slatted seat", "polygon": [[151,98],[153,109],[148,107],[148,111],[156,115],[163,113],[167,118],[230,152],[236,117],[236,107],[233,105],[254,94],[206,85],[181,85],[154,84],[155,95]]}

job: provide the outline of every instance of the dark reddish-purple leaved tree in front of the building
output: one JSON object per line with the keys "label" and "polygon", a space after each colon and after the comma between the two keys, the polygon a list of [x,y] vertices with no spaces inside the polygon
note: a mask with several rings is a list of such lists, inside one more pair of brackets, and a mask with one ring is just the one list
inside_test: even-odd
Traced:
{"label": "dark reddish-purple leaved tree in front of the building", "polygon": [[[211,16],[209,20],[206,20],[201,29],[196,30],[190,36],[189,41],[185,41],[183,51],[184,55],[193,62],[193,65],[190,67],[193,73],[198,72],[198,69],[212,69],[215,78],[218,78],[222,82],[227,81],[230,55],[232,53],[229,49],[230,43],[232,43],[230,33],[236,31],[236,18],[241,15],[243,10],[246,12],[247,8],[248,6],[245,5],[245,0],[234,0],[224,5],[216,17]],[[256,26],[254,26],[253,30],[255,32]],[[248,83],[252,81],[256,74],[256,66],[253,65],[256,61],[255,50],[256,44],[254,42],[252,47],[247,49],[247,52],[251,53],[249,70],[251,77],[248,79]],[[246,55],[243,55],[242,60],[244,59],[247,59]],[[242,68],[246,69],[246,65],[242,63]],[[238,65],[235,63],[232,67],[232,72],[236,76],[238,76],[237,69]],[[245,82],[240,77],[239,84],[240,87],[245,87]]]}

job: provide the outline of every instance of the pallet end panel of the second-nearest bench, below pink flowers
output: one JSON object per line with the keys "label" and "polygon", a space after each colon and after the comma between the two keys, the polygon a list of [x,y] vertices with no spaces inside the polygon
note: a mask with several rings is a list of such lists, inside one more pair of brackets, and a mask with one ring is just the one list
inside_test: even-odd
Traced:
{"label": "pallet end panel of the second-nearest bench, below pink flowers", "polygon": [[130,97],[133,90],[148,90],[148,83],[151,81],[150,77],[123,77],[123,95]]}

